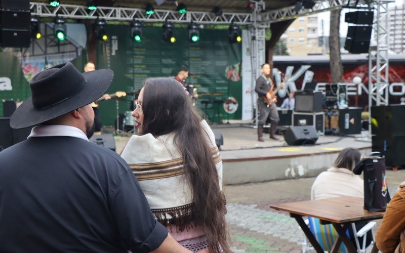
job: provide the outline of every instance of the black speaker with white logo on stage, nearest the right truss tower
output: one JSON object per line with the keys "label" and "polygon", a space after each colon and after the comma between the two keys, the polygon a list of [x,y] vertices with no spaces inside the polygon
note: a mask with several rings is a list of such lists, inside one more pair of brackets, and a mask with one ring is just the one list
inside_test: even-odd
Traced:
{"label": "black speaker with white logo on stage, nearest the right truss tower", "polygon": [[348,107],[339,110],[339,133],[342,135],[361,133],[361,108]]}

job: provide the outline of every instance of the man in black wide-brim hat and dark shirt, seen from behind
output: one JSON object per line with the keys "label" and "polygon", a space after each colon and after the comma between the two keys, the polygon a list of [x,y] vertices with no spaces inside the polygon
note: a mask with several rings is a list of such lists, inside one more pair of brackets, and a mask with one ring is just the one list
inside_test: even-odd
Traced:
{"label": "man in black wide-brim hat and dark shirt, seen from behind", "polygon": [[127,163],[88,140],[89,104],[112,77],[64,63],[30,81],[10,124],[37,126],[0,152],[0,252],[188,251],[155,221]]}

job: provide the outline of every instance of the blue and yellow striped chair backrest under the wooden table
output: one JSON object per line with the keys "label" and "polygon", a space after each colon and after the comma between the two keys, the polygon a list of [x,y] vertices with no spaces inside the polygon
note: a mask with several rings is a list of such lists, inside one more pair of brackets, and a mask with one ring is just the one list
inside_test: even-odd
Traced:
{"label": "blue and yellow striped chair backrest under the wooden table", "polygon": [[[338,238],[338,232],[336,232],[333,225],[322,225],[320,224],[319,219],[313,217],[308,217],[308,221],[309,229],[315,236],[316,240],[319,242],[319,245],[322,247],[322,249],[324,251],[331,251],[333,244]],[[346,230],[346,234],[350,237],[349,230]],[[340,245],[340,252],[348,252],[343,243]]]}

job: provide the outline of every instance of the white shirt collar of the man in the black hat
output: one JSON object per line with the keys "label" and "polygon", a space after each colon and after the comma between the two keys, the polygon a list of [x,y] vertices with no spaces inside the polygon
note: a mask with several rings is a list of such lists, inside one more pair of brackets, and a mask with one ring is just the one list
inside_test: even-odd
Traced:
{"label": "white shirt collar of the man in the black hat", "polygon": [[33,137],[68,136],[89,141],[82,130],[70,125],[38,125],[31,130],[27,139]]}

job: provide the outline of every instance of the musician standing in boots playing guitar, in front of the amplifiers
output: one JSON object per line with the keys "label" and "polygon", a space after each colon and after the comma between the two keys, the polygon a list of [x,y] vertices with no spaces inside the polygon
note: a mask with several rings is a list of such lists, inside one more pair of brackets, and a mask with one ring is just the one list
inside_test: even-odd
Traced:
{"label": "musician standing in boots playing guitar, in front of the amplifiers", "polygon": [[277,128],[277,123],[280,120],[278,117],[277,106],[275,101],[273,103],[265,103],[264,100],[272,100],[271,96],[275,86],[270,78],[270,64],[265,63],[262,65],[262,74],[256,80],[256,93],[259,98],[257,100],[257,107],[259,110],[258,126],[257,126],[257,136],[259,142],[264,142],[263,139],[263,125],[266,123],[267,118],[270,118],[270,139],[279,140],[275,136],[275,130]]}

